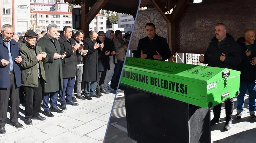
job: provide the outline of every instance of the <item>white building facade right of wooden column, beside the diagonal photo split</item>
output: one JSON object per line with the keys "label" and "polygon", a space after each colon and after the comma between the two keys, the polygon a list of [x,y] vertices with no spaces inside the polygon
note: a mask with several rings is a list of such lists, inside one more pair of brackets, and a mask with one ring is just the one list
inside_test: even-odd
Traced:
{"label": "white building facade right of wooden column, beside the diagonal photo split", "polygon": [[134,25],[134,19],[132,15],[118,13],[118,28],[124,28],[124,33],[131,33]]}

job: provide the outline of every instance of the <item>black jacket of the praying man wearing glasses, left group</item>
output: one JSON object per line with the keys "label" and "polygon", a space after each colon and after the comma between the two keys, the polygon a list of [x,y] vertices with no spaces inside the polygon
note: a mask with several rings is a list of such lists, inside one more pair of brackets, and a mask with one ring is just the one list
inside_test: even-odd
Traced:
{"label": "black jacket of the praying man wearing glasses, left group", "polygon": [[[101,41],[99,39],[96,40],[97,43],[101,44]],[[104,47],[102,48],[102,51],[100,50],[100,47],[97,48],[98,55],[99,55],[99,72],[107,71],[110,69],[109,66],[109,55],[105,55],[105,51],[108,51],[108,42],[105,42],[104,40]]]}

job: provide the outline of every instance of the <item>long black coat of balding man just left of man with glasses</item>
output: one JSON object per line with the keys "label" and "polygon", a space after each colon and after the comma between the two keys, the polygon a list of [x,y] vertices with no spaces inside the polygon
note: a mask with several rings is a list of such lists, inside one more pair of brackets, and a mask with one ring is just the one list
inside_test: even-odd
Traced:
{"label": "long black coat of balding man just left of man with glasses", "polygon": [[84,50],[88,50],[84,57],[83,78],[85,82],[98,81],[98,50],[94,49],[94,42],[88,37],[82,41]]}

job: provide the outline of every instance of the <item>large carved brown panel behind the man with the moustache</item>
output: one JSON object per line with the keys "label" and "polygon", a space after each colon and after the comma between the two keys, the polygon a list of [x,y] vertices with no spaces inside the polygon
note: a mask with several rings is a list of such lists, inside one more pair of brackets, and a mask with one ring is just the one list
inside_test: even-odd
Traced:
{"label": "large carved brown panel behind the man with the moustache", "polygon": [[176,52],[204,53],[214,37],[216,23],[224,23],[234,39],[256,29],[256,1],[189,4],[175,23]]}

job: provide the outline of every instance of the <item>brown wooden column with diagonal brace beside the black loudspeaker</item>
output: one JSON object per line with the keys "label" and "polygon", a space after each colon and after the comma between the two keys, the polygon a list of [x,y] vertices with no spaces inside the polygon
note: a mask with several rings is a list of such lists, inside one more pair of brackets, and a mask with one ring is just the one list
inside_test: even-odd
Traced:
{"label": "brown wooden column with diagonal brace beside the black loudspeaker", "polygon": [[90,22],[107,2],[108,0],[97,0],[89,10],[89,0],[83,0],[83,6],[81,7],[81,30],[84,32],[84,38],[88,35]]}

